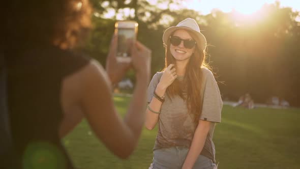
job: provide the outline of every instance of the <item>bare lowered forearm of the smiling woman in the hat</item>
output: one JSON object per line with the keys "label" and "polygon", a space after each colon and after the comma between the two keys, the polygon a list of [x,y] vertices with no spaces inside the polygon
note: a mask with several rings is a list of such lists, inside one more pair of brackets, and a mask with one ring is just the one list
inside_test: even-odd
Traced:
{"label": "bare lowered forearm of the smiling woman in the hat", "polygon": [[182,166],[183,169],[193,168],[198,156],[200,155],[204,144],[207,133],[212,122],[199,120],[196,128],[191,147],[189,149],[186,160]]}

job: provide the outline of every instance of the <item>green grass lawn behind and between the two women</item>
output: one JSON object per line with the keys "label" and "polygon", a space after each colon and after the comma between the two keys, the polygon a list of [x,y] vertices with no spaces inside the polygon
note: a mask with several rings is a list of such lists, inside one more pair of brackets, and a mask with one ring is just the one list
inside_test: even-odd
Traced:
{"label": "green grass lawn behind and between the two women", "polygon": [[[129,97],[115,97],[124,115]],[[157,128],[143,130],[132,156],[121,160],[110,153],[82,121],[65,139],[78,168],[148,168],[153,158]],[[300,168],[300,109],[256,108],[224,105],[222,123],[215,129],[219,168]]]}

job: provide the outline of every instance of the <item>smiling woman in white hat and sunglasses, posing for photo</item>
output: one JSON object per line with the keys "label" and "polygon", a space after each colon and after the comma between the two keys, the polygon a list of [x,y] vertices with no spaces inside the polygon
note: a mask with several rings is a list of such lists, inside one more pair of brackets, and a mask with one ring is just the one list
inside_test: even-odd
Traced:
{"label": "smiling woman in white hat and sunglasses, posing for photo", "polygon": [[146,128],[157,123],[150,168],[217,168],[213,134],[223,102],[214,75],[205,68],[205,37],[194,19],[163,35],[165,69],[148,86]]}

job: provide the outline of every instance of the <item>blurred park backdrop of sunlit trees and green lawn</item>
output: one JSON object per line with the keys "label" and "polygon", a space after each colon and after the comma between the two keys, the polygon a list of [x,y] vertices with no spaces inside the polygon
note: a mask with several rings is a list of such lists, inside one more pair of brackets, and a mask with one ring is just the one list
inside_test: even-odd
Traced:
{"label": "blurred park backdrop of sunlit trees and green lawn", "polygon": [[[214,136],[219,168],[300,168],[300,1],[215,0],[210,5],[216,8],[208,13],[201,4],[206,1],[90,2],[95,9],[93,29],[78,50],[105,66],[115,21],[135,20],[139,23],[137,39],[152,49],[152,75],[164,67],[164,30],[194,18],[206,37],[206,62],[212,66],[224,101],[237,101],[249,93],[255,103],[264,104],[276,96],[291,106],[249,110],[224,105]],[[284,6],[284,2],[292,5]],[[226,5],[232,8],[217,9]],[[133,72],[127,76],[135,81]],[[128,96],[114,97],[121,115],[129,100]],[[137,150],[126,161],[99,143],[86,121],[64,142],[78,168],[147,168],[156,132],[157,128],[144,129]]]}

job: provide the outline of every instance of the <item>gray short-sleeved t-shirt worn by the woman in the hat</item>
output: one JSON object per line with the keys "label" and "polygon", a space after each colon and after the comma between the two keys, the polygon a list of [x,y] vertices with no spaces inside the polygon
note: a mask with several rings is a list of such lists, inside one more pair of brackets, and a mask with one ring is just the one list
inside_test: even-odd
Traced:
{"label": "gray short-sleeved t-shirt worn by the woman in the hat", "polygon": [[[215,130],[215,122],[221,122],[221,110],[223,102],[220,90],[214,75],[206,68],[202,68],[202,90],[203,104],[199,120],[207,120],[211,123],[211,128],[207,134],[201,155],[204,155],[215,161],[215,145],[213,135]],[[153,93],[160,81],[163,72],[157,72],[147,90],[147,102],[151,102]],[[183,77],[177,77],[183,80]],[[200,104],[200,101],[199,101]],[[161,106],[161,114],[159,115],[159,129],[154,145],[154,150],[168,147],[186,147],[189,148],[196,130],[194,123],[194,115],[189,114],[186,101],[179,96],[173,98],[165,97],[165,101]]]}

